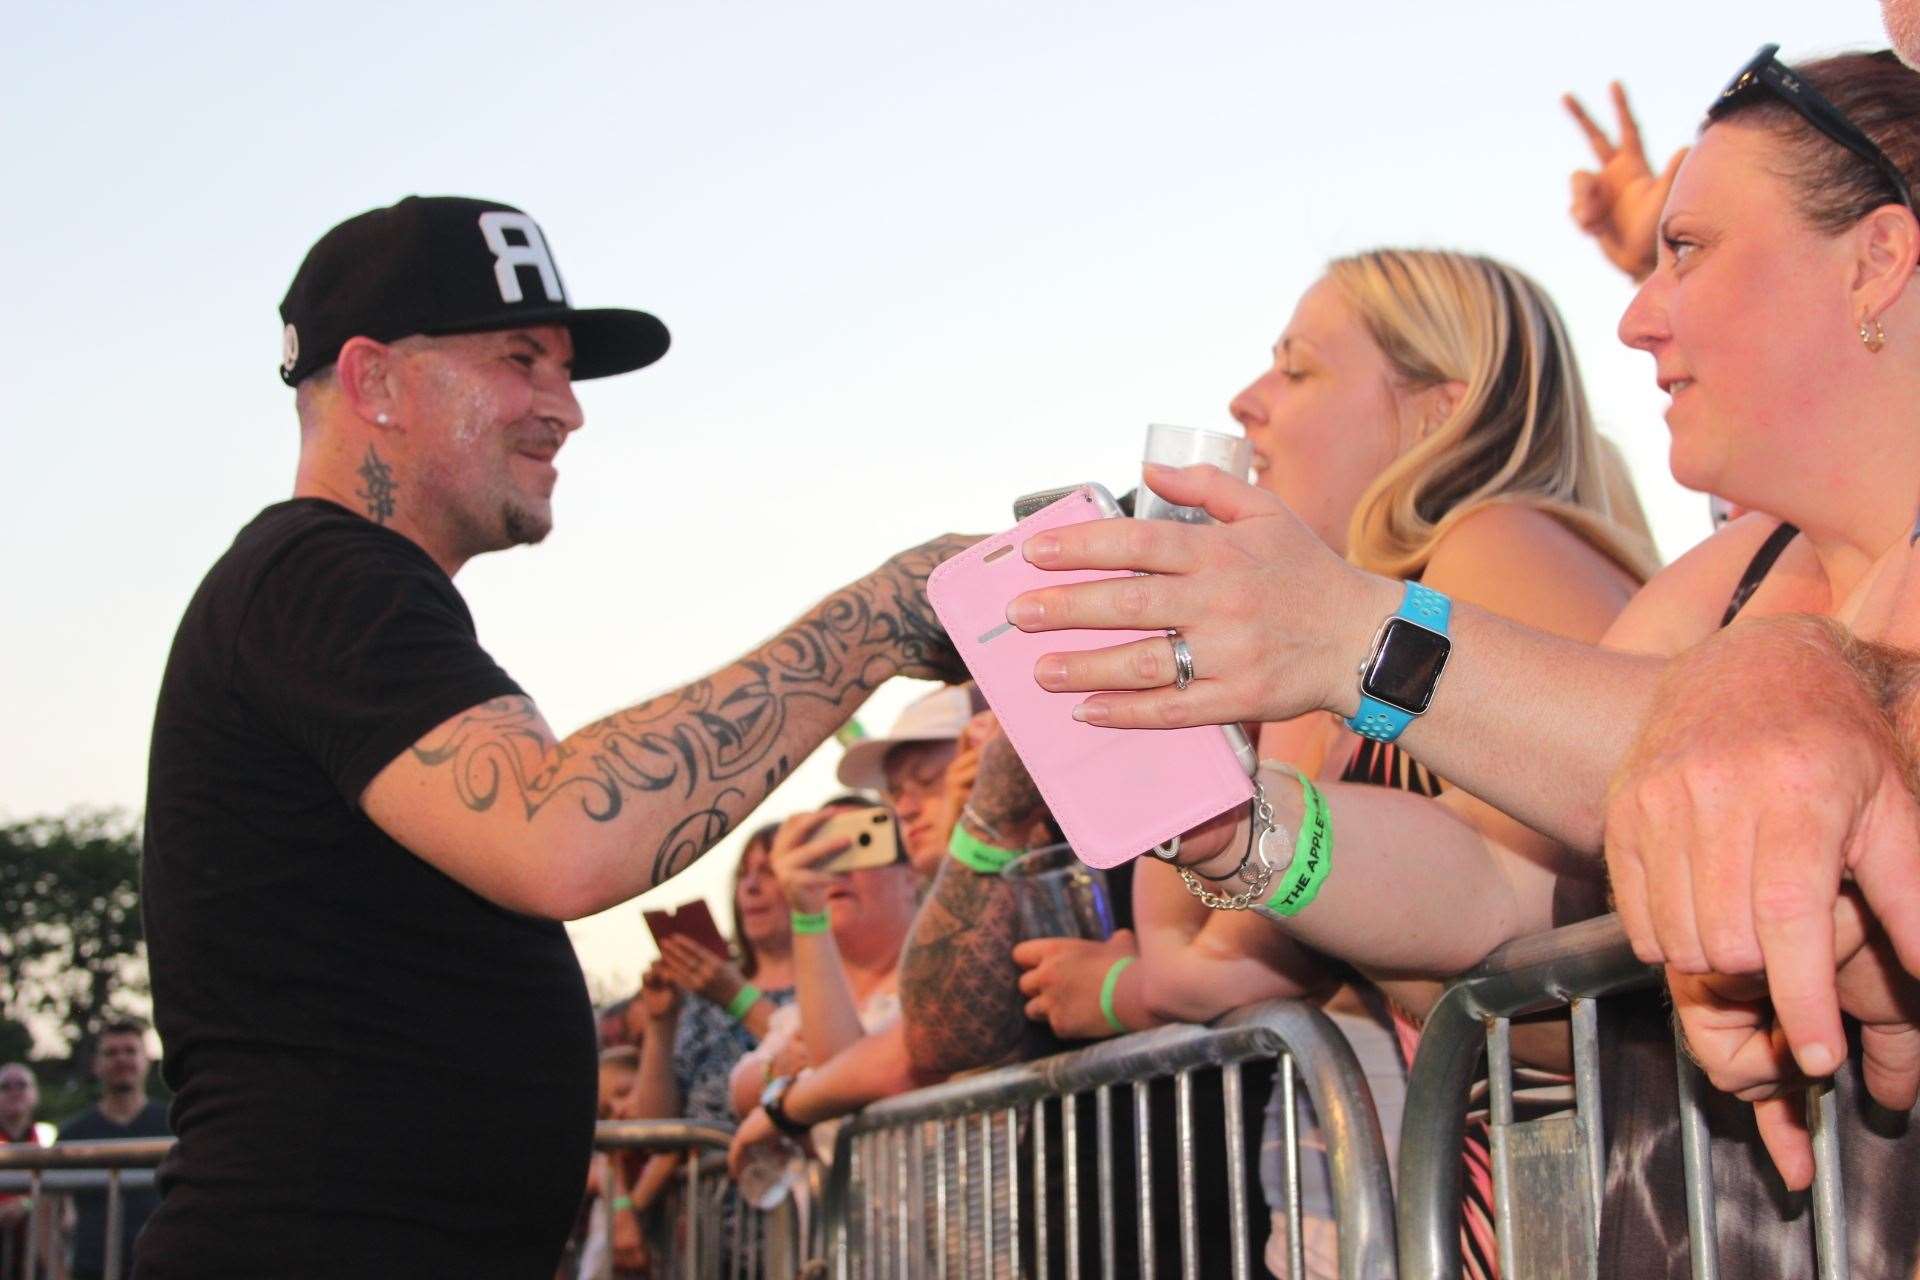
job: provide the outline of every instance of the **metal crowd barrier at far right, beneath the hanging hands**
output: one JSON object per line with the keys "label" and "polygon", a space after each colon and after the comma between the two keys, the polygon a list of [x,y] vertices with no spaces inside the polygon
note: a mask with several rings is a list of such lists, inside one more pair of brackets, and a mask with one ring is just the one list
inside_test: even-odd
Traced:
{"label": "metal crowd barrier at far right, beneath the hanging hands", "polygon": [[[1509,942],[1448,986],[1427,1019],[1407,1079],[1407,1109],[1400,1130],[1402,1276],[1425,1280],[1459,1274],[1461,1146],[1482,1048],[1488,1061],[1501,1276],[1528,1280],[1599,1274],[1605,1140],[1596,1000],[1655,986],[1659,981],[1659,969],[1634,958],[1619,919],[1603,915]],[[1513,1017],[1555,1006],[1571,1006],[1572,1011],[1574,1113],[1517,1125],[1509,1025]],[[1680,1138],[1693,1276],[1715,1280],[1713,1157],[1701,1111],[1701,1096],[1713,1086],[1684,1050],[1674,1057],[1680,1073]],[[1832,1086],[1809,1090],[1809,1123],[1816,1157],[1812,1209],[1818,1274],[1822,1280],[1847,1280],[1839,1117]],[[1528,1211],[1532,1230],[1521,1230],[1517,1207]],[[1569,1213],[1542,1213],[1555,1207]],[[1551,1226],[1567,1217],[1576,1222],[1578,1238],[1553,1240]]]}

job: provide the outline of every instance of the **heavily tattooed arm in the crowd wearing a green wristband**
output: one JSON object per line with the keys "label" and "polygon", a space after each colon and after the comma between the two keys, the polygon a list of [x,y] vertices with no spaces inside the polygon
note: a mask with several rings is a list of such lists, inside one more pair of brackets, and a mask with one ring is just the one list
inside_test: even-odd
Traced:
{"label": "heavily tattooed arm in the crowd wearing a green wristband", "polygon": [[[1004,735],[981,750],[960,821],[981,841],[1023,842],[1046,806]],[[916,1073],[952,1075],[1041,1052],[1044,1029],[1020,994],[1020,912],[1014,887],[960,862],[941,862],[900,956],[900,1021]]]}

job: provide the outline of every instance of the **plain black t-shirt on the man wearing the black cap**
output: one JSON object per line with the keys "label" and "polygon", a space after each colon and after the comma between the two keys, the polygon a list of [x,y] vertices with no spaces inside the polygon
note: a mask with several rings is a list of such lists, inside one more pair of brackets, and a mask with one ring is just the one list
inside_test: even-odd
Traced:
{"label": "plain black t-shirt on the man wearing the black cap", "polygon": [[180,620],[144,913],[179,1146],[136,1276],[551,1276],[595,1044],[564,929],[388,839],[369,781],[518,685],[413,541],[248,524]]}

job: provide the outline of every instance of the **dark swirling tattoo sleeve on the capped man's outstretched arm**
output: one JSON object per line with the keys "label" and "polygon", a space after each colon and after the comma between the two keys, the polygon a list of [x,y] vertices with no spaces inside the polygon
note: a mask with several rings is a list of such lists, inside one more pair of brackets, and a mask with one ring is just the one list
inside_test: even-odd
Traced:
{"label": "dark swirling tattoo sleeve on the capped man's outstretched arm", "polygon": [[964,677],[925,583],[970,541],[900,553],[732,666],[563,741],[532,699],[505,697],[422,739],[413,758],[445,770],[474,812],[630,823],[659,885],[737,827],[887,677]]}

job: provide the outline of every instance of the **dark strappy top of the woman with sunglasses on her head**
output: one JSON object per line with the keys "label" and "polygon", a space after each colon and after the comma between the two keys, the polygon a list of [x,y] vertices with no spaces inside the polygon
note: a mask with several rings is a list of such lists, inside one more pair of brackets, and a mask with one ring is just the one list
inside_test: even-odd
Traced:
{"label": "dark strappy top of the woman with sunglasses on her head", "polygon": [[[1732,622],[1797,530],[1782,524],[1755,553],[1728,603]],[[1599,1274],[1690,1280],[1680,1098],[1667,988],[1599,1002],[1601,1121],[1607,1130]],[[1834,1079],[1841,1113],[1847,1253],[1860,1280],[1914,1274],[1920,1261],[1920,1125],[1866,1096],[1859,1029]],[[1703,1111],[1713,1150],[1718,1263],[1724,1280],[1812,1276],[1812,1197],[1780,1182],[1753,1107],[1713,1088]]]}

